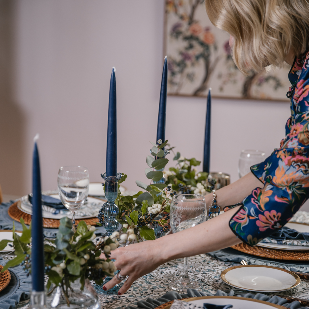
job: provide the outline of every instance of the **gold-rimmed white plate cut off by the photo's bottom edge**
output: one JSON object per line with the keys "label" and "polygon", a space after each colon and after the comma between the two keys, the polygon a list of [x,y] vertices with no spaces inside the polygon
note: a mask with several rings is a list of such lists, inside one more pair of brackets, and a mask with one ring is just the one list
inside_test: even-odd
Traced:
{"label": "gold-rimmed white plate cut off by the photo's bottom edge", "polygon": [[[194,304],[202,307],[204,303],[210,303],[214,305],[233,305],[233,309],[282,309],[281,306],[272,303],[264,302],[259,299],[236,297],[236,296],[202,296],[184,299],[184,302]],[[168,308],[168,307],[166,307]]]}

